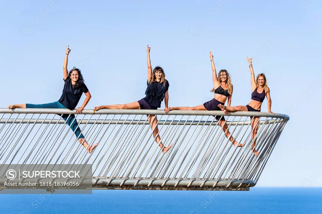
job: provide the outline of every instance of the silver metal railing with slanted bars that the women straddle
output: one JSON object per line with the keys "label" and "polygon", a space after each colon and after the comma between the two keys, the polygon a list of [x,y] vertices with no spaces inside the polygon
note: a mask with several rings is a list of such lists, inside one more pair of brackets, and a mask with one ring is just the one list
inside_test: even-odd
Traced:
{"label": "silver metal railing with slanted bars that the women straddle", "polygon": [[[249,190],[289,120],[265,112],[83,110],[76,115],[89,154],[59,115],[67,109],[0,109],[0,170],[4,164],[91,164],[95,189]],[[157,118],[165,146],[147,115]],[[213,116],[225,117],[234,147]],[[252,140],[251,120],[260,117]],[[251,150],[254,140],[259,156]],[[1,175],[5,177],[5,174]],[[1,182],[0,182],[1,184]]]}

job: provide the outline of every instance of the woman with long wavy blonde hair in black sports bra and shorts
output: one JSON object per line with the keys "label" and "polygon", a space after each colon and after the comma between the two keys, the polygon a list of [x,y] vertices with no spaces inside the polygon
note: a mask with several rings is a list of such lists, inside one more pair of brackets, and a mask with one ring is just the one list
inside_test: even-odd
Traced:
{"label": "woman with long wavy blonde hair in black sports bra and shorts", "polygon": [[[210,52],[210,61],[211,67],[213,69],[213,90],[214,98],[203,105],[197,105],[194,107],[170,107],[170,111],[172,110],[208,110],[208,111],[220,111],[218,104],[225,104],[228,98],[228,106],[232,101],[232,83],[230,76],[226,70],[220,70],[218,77],[216,73],[215,64],[213,63],[213,55]],[[232,136],[230,136],[230,132],[225,121],[224,116],[216,116],[215,119],[218,121],[219,125],[222,127],[225,136],[229,138],[232,144],[236,147],[243,147],[245,144],[238,143]],[[229,137],[230,136],[230,137]]]}

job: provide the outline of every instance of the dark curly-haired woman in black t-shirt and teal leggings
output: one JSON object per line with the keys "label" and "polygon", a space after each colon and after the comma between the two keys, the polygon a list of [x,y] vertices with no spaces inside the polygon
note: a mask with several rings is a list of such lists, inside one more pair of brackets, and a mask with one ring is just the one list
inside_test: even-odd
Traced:
{"label": "dark curly-haired woman in black t-shirt and teal leggings", "polygon": [[[57,109],[70,109],[73,110],[77,106],[79,100],[81,99],[81,95],[83,92],[86,95],[85,101],[81,107],[76,110],[77,114],[80,114],[81,111],[85,108],[87,103],[90,101],[91,95],[89,90],[87,89],[83,76],[81,75],[81,70],[78,68],[73,67],[68,74],[67,70],[67,62],[68,62],[68,54],[70,53],[71,49],[69,46],[66,48],[66,55],[64,59],[64,89],[62,91],[62,96],[59,101],[54,103],[46,103],[46,104],[15,104],[15,105],[8,105],[9,109],[13,108],[57,108]],[[97,146],[94,144],[93,146],[89,146],[86,142],[86,139],[83,134],[81,134],[81,129],[78,127],[77,121],[75,119],[74,114],[58,114],[62,116],[62,118],[66,121],[66,123],[70,126],[70,128],[75,132],[76,138],[78,141],[87,149],[89,153],[93,151],[93,149]],[[75,131],[76,130],[76,131]]]}

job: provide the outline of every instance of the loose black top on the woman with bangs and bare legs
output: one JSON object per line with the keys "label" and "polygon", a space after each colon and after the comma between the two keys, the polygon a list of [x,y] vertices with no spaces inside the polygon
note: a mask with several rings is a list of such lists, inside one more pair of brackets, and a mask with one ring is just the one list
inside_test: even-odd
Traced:
{"label": "loose black top on the woman with bangs and bare legs", "polygon": [[163,83],[156,81],[149,83],[149,81],[147,81],[147,90],[145,91],[147,96],[144,98],[144,100],[154,107],[161,107],[161,102],[163,101],[164,95],[168,89],[169,82],[166,79]]}

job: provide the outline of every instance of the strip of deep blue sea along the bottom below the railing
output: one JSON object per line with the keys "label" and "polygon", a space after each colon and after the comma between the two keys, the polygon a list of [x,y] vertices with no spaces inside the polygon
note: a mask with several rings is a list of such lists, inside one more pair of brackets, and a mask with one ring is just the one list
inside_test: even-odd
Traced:
{"label": "strip of deep blue sea along the bottom below the railing", "polygon": [[0,213],[322,213],[322,188],[250,191],[93,190],[92,194],[0,194]]}

